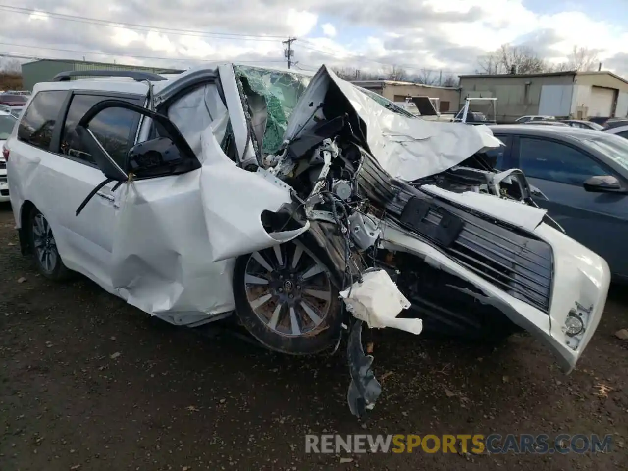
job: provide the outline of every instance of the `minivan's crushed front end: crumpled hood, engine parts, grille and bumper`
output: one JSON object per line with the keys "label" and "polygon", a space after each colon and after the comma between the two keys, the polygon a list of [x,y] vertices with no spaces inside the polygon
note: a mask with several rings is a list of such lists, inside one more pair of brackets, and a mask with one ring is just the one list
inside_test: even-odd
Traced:
{"label": "minivan's crushed front end: crumpled hood, engine parts, grille and bumper", "polygon": [[[381,393],[373,357],[362,349],[363,322],[415,335],[425,323],[480,338],[518,326],[549,344],[565,372],[597,327],[607,264],[536,206],[521,171],[493,170],[484,151],[500,145],[485,126],[387,109],[322,67],[281,145],[257,155],[257,175],[286,192],[270,208],[276,219],[266,231],[306,231],[353,318],[347,355],[355,415]],[[281,232],[286,224],[296,232]]]}

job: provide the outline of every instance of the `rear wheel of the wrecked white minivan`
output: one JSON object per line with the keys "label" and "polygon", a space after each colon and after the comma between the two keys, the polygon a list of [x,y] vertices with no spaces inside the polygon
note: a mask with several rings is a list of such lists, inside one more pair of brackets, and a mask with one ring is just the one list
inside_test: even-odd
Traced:
{"label": "rear wheel of the wrecked white minivan", "polygon": [[38,271],[48,279],[68,279],[70,270],[63,264],[50,224],[40,210],[31,208],[28,215],[28,243]]}

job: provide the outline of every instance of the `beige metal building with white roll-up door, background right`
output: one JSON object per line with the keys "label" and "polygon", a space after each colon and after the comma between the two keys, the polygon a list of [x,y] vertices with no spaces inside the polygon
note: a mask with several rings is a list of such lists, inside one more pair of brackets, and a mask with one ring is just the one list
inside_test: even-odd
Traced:
{"label": "beige metal building with white roll-up door, background right", "polygon": [[465,97],[497,97],[497,122],[520,116],[628,116],[628,81],[612,72],[460,75]]}

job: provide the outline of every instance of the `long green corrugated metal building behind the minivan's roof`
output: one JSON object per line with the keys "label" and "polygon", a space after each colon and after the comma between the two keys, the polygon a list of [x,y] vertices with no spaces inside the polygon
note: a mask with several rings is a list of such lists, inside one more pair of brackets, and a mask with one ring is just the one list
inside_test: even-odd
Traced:
{"label": "long green corrugated metal building behind the minivan's roof", "polygon": [[41,59],[22,64],[24,89],[33,90],[36,83],[50,82],[57,73],[68,72],[70,70],[138,70],[153,73],[181,72],[180,70],[170,68],[142,67],[139,65],[112,64],[107,62]]}

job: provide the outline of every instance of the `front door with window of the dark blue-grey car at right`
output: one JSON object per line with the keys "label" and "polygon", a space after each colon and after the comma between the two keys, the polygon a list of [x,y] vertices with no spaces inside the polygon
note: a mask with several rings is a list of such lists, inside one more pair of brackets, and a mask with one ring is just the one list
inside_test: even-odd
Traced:
{"label": "front door with window of the dark blue-grey car at right", "polygon": [[602,161],[560,141],[519,136],[513,149],[520,168],[544,197],[536,203],[560,224],[568,236],[609,263],[611,273],[628,276],[628,195],[595,193],[583,183],[592,176],[612,175],[625,182]]}

